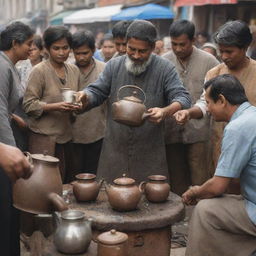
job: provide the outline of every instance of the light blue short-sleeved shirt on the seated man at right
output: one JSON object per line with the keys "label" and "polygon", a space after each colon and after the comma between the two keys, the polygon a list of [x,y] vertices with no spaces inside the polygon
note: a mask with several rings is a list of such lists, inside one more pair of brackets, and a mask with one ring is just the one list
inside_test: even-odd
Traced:
{"label": "light blue short-sleeved shirt on the seated man at right", "polygon": [[241,104],[224,129],[215,176],[240,178],[247,213],[256,224],[256,107]]}

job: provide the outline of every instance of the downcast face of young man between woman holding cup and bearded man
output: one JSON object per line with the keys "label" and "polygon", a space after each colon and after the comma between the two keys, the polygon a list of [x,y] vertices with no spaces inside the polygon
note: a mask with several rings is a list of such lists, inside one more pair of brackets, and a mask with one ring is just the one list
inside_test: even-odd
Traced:
{"label": "downcast face of young man between woman holding cup and bearded man", "polygon": [[91,63],[94,50],[87,45],[73,49],[73,52],[78,67],[87,67]]}

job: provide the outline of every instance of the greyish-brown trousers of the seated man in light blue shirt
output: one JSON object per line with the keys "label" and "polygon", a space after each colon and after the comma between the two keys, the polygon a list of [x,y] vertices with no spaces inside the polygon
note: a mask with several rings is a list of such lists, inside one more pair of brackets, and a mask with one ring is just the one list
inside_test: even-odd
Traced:
{"label": "greyish-brown trousers of the seated man in light blue shirt", "polygon": [[201,200],[189,223],[186,256],[252,256],[256,226],[242,196]]}

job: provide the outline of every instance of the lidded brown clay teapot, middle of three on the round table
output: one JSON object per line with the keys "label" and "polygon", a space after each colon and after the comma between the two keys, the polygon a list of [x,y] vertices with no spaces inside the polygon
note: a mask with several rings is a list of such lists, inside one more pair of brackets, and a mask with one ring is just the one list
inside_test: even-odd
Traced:
{"label": "lidded brown clay teapot, middle of three on the round table", "polygon": [[142,183],[138,187],[135,180],[123,177],[115,179],[113,185],[107,185],[106,192],[109,204],[117,211],[131,211],[135,210],[142,195]]}

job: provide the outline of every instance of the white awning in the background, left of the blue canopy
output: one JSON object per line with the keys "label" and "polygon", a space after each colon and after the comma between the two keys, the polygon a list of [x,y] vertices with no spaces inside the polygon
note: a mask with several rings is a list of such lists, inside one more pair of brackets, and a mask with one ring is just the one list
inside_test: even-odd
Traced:
{"label": "white awning in the background, left of the blue canopy", "polygon": [[121,11],[121,4],[109,5],[106,7],[92,8],[77,11],[70,16],[64,18],[65,24],[85,24],[93,22],[108,22],[111,16]]}

